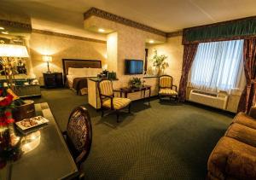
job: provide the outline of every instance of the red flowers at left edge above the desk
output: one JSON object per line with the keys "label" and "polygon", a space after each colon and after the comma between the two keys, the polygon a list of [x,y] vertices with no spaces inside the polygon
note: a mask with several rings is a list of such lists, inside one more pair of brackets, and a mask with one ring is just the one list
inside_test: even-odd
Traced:
{"label": "red flowers at left edge above the desk", "polygon": [[[0,90],[0,96],[3,95],[3,90]],[[11,109],[15,107],[14,96],[7,93],[7,96],[4,96],[0,100],[0,127],[5,127],[11,123],[15,122],[15,119],[12,118]]]}

